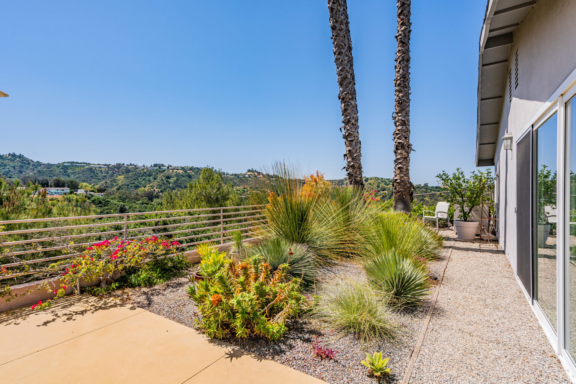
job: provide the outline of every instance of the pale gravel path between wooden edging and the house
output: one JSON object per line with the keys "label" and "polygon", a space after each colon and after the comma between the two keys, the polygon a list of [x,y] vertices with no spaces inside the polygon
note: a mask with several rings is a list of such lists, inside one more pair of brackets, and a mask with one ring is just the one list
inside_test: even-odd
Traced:
{"label": "pale gravel path between wooden edging and the house", "polygon": [[570,382],[502,249],[454,241],[410,382]]}

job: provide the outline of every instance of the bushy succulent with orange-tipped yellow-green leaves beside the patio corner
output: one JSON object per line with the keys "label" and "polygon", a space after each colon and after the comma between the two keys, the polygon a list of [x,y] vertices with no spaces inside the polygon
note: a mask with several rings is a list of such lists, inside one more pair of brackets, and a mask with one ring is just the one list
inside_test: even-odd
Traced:
{"label": "bushy succulent with orange-tipped yellow-green leaves beside the patio corner", "polygon": [[245,338],[252,334],[278,340],[286,321],[313,306],[300,294],[300,280],[285,281],[288,265],[272,272],[262,256],[226,265],[212,279],[188,286],[186,292],[201,316],[198,325],[209,337]]}

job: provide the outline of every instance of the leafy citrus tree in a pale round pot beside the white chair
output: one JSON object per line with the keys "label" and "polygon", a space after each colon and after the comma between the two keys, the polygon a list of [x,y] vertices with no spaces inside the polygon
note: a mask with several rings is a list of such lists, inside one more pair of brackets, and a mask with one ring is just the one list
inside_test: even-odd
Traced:
{"label": "leafy citrus tree in a pale round pot beside the white chair", "polygon": [[476,236],[478,221],[472,220],[475,207],[491,202],[494,176],[490,170],[475,170],[466,177],[464,171],[456,168],[456,172],[448,174],[442,171],[436,175],[442,187],[450,191],[446,200],[454,207],[460,207],[460,215],[454,218],[454,229],[459,239],[473,240]]}

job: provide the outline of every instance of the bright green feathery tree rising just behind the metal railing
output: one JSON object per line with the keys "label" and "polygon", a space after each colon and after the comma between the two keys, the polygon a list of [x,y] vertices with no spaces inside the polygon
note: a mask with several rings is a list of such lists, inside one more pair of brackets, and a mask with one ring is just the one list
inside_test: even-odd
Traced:
{"label": "bright green feathery tree rising just behind the metal railing", "polygon": [[188,188],[175,192],[166,191],[162,204],[168,210],[191,210],[195,208],[233,207],[240,203],[240,196],[230,181],[224,182],[222,173],[206,167],[200,178],[188,183]]}

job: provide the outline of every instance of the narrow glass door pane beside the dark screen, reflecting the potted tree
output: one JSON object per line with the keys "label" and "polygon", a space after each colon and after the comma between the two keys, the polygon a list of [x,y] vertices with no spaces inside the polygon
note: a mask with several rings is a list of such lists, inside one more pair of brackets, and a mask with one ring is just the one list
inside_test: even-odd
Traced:
{"label": "narrow glass door pane beside the dark screen, reflecting the potted tree", "polygon": [[534,132],[535,201],[534,299],[557,327],[556,308],[556,158],[558,113],[554,113]]}

